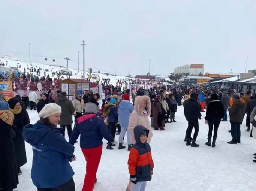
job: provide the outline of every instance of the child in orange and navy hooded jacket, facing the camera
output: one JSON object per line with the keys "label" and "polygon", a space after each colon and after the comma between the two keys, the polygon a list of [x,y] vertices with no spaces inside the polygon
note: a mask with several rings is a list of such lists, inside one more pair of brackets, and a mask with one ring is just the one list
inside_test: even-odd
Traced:
{"label": "child in orange and navy hooded jacket, facing the camera", "polygon": [[151,180],[154,162],[151,155],[151,148],[147,141],[149,130],[142,125],[133,129],[136,143],[130,149],[128,168],[132,191],[144,191],[147,181]]}

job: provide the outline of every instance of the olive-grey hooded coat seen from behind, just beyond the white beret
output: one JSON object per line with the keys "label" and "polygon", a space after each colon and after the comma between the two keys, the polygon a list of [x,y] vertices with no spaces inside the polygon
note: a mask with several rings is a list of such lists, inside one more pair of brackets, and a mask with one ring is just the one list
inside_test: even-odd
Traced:
{"label": "olive-grey hooded coat seen from behind, just beyond the white beret", "polygon": [[59,125],[71,125],[73,123],[72,115],[75,112],[75,108],[71,100],[68,100],[67,97],[59,95],[56,102],[57,105],[61,106],[61,120]]}

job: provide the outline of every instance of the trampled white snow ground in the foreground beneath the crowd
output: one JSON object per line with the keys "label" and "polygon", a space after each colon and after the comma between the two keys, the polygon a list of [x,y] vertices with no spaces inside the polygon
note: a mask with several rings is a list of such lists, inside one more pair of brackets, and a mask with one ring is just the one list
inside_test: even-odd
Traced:
{"label": "trampled white snow ground in the foreground beneath the crowd", "polygon": [[[31,123],[38,120],[37,112],[28,110]],[[205,115],[204,113],[202,115]],[[176,123],[167,124],[165,131],[153,130],[151,142],[155,162],[154,175],[148,182],[147,191],[253,191],[256,188],[256,164],[252,162],[255,139],[249,137],[241,126],[241,144],[230,145],[229,122],[221,122],[216,147],[205,145],[208,127],[204,116],[199,121],[198,148],[185,146],[187,122],[183,107],[178,107]],[[192,134],[193,135],[193,134]],[[67,137],[67,135],[66,135]],[[117,137],[116,137],[117,140]],[[78,140],[79,141],[79,140]],[[126,140],[125,140],[126,143]],[[127,144],[125,144],[127,146]],[[85,175],[85,159],[75,145],[77,160],[71,163],[75,175],[76,190],[80,191]],[[104,140],[103,154],[97,173],[95,191],[125,191],[129,174],[126,149],[107,150]],[[27,164],[22,167],[18,188],[15,191],[35,191],[30,178],[32,147],[26,144]],[[54,168],[54,167],[52,167]]]}

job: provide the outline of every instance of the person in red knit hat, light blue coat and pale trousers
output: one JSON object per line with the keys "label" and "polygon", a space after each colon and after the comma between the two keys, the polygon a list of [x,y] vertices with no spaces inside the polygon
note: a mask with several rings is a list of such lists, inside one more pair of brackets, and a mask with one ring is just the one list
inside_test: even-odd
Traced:
{"label": "person in red knit hat, light blue coat and pale trousers", "polygon": [[120,121],[121,133],[119,135],[119,147],[118,149],[125,149],[126,147],[122,145],[125,133],[127,131],[127,143],[128,151],[131,149],[131,135],[128,131],[129,117],[131,112],[133,112],[134,106],[130,103],[130,96],[128,94],[123,95],[123,100],[118,105],[118,119]]}

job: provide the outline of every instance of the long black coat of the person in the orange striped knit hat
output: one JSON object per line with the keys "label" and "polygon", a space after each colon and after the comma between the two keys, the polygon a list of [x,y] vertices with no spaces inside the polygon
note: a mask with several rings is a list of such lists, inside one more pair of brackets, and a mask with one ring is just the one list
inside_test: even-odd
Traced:
{"label": "long black coat of the person in the orange striped knit hat", "polygon": [[12,138],[15,133],[12,126],[0,119],[0,188],[17,188],[18,171]]}

